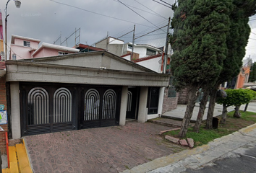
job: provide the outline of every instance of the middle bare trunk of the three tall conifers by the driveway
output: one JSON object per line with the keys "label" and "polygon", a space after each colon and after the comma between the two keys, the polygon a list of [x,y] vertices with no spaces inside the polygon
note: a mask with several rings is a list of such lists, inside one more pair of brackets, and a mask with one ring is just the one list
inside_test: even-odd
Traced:
{"label": "middle bare trunk of the three tall conifers by the driveway", "polygon": [[197,114],[197,121],[193,129],[197,133],[199,133],[200,125],[202,123],[202,117],[205,114],[205,107],[210,94],[210,89],[204,88],[202,89],[202,92],[203,92],[203,95],[202,95],[202,99],[200,100],[200,107],[199,107],[199,112]]}

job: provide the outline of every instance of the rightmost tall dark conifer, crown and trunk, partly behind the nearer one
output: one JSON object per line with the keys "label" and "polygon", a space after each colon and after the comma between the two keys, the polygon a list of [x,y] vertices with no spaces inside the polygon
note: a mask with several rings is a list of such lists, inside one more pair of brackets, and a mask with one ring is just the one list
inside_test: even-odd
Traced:
{"label": "rightmost tall dark conifer, crown and trunk, partly behind the nearer one", "polygon": [[213,110],[216,104],[216,92],[218,87],[225,81],[231,81],[239,74],[242,59],[245,56],[245,47],[249,39],[249,17],[255,14],[255,0],[234,0],[229,16],[231,25],[227,34],[226,45],[228,54],[223,61],[221,74],[210,92],[210,103],[206,120],[206,128],[213,129]]}

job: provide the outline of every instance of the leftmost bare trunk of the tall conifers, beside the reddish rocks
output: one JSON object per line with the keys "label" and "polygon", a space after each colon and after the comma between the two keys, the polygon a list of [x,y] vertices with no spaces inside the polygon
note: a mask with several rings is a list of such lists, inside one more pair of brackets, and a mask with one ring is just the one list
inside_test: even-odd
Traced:
{"label": "leftmost bare trunk of the tall conifers, beside the reddish rocks", "polygon": [[179,131],[180,138],[186,137],[187,128],[189,127],[190,119],[193,114],[196,100],[197,100],[197,87],[191,86],[191,88],[189,89],[187,109],[182,120],[181,130]]}

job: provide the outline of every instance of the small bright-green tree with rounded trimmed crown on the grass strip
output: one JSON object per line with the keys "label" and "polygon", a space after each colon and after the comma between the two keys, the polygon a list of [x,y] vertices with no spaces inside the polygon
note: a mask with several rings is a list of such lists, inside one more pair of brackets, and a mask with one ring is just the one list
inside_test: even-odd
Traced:
{"label": "small bright-green tree with rounded trimmed crown on the grass strip", "polygon": [[221,123],[226,122],[227,107],[235,106],[234,117],[241,117],[239,108],[241,105],[249,103],[256,97],[256,92],[251,89],[226,89],[226,98],[218,98],[216,102],[223,105]]}

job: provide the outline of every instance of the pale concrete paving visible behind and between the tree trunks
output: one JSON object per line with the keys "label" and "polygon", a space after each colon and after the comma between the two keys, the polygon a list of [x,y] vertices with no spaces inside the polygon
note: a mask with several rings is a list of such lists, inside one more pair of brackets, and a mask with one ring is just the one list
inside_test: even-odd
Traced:
{"label": "pale concrete paving visible behind and between the tree trunks", "polygon": [[[207,118],[208,105],[209,105],[209,102],[206,105],[205,114],[204,114],[202,120],[206,120],[206,118]],[[242,105],[240,107],[240,110],[244,110],[244,107],[245,107],[245,105]],[[184,117],[186,108],[187,108],[187,105],[178,105],[175,110],[171,110],[170,112],[165,112],[162,115],[162,117],[168,117],[168,118],[173,118],[173,119],[177,119],[177,120],[182,120]],[[222,110],[223,110],[223,106],[216,104],[214,112],[213,112],[213,116],[216,117],[218,115],[221,115]],[[234,106],[228,107],[228,111],[232,111],[232,110],[234,110]],[[256,112],[256,102],[249,102],[247,111]],[[192,122],[195,122],[195,120],[197,120],[198,112],[199,112],[199,103],[196,103],[194,111],[193,111],[193,115],[191,118]]]}

